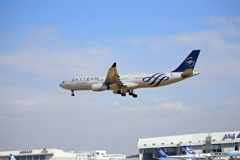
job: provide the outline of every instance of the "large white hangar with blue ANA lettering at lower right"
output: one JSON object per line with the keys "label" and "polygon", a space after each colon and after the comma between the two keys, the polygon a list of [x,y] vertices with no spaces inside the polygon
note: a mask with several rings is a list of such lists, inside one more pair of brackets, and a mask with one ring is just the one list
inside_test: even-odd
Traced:
{"label": "large white hangar with blue ANA lettering at lower right", "polygon": [[141,138],[138,139],[139,160],[160,158],[157,148],[161,148],[168,156],[185,155],[184,145],[190,147],[197,154],[233,151],[239,153],[240,131]]}

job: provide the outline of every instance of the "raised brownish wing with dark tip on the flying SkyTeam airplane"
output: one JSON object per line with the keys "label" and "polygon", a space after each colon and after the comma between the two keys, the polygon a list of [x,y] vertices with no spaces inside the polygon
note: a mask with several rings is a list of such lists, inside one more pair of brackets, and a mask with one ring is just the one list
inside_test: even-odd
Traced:
{"label": "raised brownish wing with dark tip on the flying SkyTeam airplane", "polygon": [[113,63],[111,68],[109,68],[107,77],[105,79],[105,83],[106,84],[117,83],[118,87],[124,86],[123,82],[120,79],[120,76],[118,75],[116,62]]}

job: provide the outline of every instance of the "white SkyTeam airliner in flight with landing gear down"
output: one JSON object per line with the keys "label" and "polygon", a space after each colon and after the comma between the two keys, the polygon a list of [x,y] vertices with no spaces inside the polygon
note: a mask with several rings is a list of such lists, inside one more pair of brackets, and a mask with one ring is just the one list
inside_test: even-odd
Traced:
{"label": "white SkyTeam airliner in flight with landing gear down", "polygon": [[74,91],[92,90],[95,92],[112,90],[114,94],[121,94],[137,98],[134,89],[161,87],[176,83],[187,78],[196,76],[199,72],[193,72],[197,62],[200,50],[193,50],[181,65],[170,73],[153,73],[138,75],[119,75],[117,72],[116,62],[108,70],[107,76],[90,76],[76,77],[64,80],[59,86],[66,90],[71,90],[72,96]]}

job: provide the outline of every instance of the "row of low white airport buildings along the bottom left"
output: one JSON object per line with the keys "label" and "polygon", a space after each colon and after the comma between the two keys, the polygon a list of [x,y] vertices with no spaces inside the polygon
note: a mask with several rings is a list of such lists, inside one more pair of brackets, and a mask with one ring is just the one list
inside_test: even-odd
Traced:
{"label": "row of low white airport buildings along the bottom left", "polygon": [[120,160],[126,158],[125,154],[106,154],[105,150],[64,152],[60,149],[38,149],[2,151],[0,152],[0,160],[10,160],[10,154],[16,160]]}

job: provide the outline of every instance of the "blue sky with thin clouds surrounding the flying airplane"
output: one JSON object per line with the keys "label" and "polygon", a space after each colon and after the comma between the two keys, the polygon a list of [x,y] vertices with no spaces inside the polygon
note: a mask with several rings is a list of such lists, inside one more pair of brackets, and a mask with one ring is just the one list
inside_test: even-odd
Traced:
{"label": "blue sky with thin clouds surrounding the flying airplane", "polygon": [[[138,153],[137,139],[239,130],[240,1],[1,1],[0,150]],[[199,76],[137,99],[58,85],[76,76]]]}

